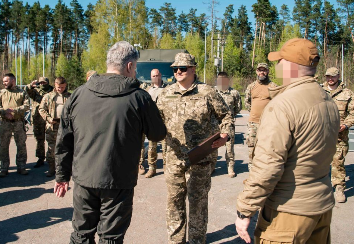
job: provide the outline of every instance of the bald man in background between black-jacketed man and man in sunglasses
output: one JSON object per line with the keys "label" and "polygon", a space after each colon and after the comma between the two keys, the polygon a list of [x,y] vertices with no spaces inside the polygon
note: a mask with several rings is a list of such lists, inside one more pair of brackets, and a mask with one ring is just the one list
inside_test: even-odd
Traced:
{"label": "bald man in background between black-jacketed man and man in sunglasses", "polygon": [[[146,91],[150,94],[152,100],[157,102],[158,96],[161,91],[166,87],[166,84],[162,82],[161,73],[158,69],[151,70],[151,84]],[[166,165],[166,139],[161,141],[162,145],[162,160],[164,161],[164,170]],[[149,141],[149,152],[148,152],[148,164],[149,171],[145,175],[145,178],[151,178],[156,174],[156,161],[157,161],[157,142]]]}

